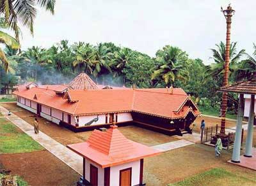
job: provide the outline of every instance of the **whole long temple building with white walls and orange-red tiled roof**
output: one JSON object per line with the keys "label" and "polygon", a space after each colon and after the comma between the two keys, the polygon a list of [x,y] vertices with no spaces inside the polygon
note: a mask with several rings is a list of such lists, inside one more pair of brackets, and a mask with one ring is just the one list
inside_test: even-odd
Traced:
{"label": "whole long temple building with white walls and orange-red tiled roof", "polygon": [[58,125],[79,132],[116,125],[138,125],[182,135],[200,114],[180,88],[137,89],[97,85],[80,73],[68,85],[20,85],[17,105]]}

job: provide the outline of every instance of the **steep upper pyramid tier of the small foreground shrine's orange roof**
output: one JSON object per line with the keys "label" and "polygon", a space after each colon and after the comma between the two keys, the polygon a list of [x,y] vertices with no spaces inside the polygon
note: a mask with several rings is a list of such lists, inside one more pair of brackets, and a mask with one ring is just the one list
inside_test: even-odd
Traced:
{"label": "steep upper pyramid tier of the small foreground shrine's orange roof", "polygon": [[132,141],[125,138],[116,125],[111,125],[106,132],[93,131],[87,143],[95,150],[111,157],[134,152]]}

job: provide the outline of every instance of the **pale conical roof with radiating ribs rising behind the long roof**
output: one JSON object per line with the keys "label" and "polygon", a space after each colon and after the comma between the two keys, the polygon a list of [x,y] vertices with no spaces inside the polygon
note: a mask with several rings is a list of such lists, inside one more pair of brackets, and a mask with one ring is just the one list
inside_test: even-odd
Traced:
{"label": "pale conical roof with radiating ribs rising behind the long roof", "polygon": [[86,90],[95,90],[98,89],[96,83],[86,75],[86,73],[80,73],[72,82],[69,83],[69,86],[73,89],[86,89]]}

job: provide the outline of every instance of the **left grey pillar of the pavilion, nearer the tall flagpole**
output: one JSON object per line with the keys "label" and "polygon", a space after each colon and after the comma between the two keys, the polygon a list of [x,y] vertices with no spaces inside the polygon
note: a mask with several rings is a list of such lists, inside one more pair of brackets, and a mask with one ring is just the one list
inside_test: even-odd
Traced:
{"label": "left grey pillar of the pavilion, nearer the tall flagpole", "polygon": [[236,138],[232,154],[232,162],[240,162],[241,138],[242,138],[242,122],[244,117],[244,94],[239,95],[239,105],[236,121]]}

